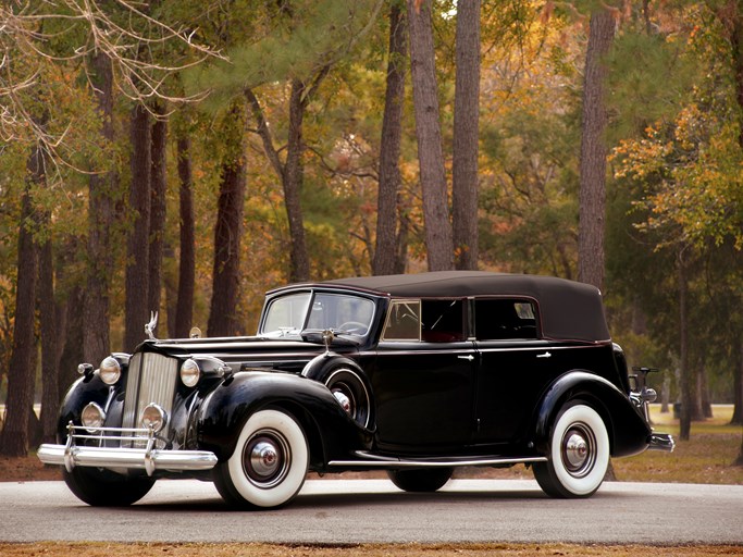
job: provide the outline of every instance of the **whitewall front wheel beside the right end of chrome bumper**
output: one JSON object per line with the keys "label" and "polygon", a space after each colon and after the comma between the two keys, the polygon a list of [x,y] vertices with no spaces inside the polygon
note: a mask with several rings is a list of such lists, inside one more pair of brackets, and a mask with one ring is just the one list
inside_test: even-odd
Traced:
{"label": "whitewall front wheel beside the right end of chrome bumper", "polygon": [[214,483],[231,505],[276,508],[299,493],[308,465],[307,438],[294,417],[261,410],[245,422],[232,457],[216,466]]}

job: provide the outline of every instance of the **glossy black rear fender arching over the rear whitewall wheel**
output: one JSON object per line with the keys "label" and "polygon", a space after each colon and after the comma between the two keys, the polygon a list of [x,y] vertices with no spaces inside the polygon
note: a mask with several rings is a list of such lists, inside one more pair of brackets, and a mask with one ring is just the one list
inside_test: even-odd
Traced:
{"label": "glossy black rear fender arching over the rear whitewall wheel", "polygon": [[647,448],[651,426],[629,397],[604,377],[573,370],[555,380],[537,406],[532,442],[541,454],[548,454],[552,426],[571,400],[584,401],[600,414],[609,433],[612,457],[636,455]]}

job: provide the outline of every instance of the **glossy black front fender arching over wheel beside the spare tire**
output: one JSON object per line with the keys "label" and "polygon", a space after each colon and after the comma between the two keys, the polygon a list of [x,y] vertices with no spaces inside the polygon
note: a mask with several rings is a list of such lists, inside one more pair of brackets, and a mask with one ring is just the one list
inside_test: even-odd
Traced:
{"label": "glossy black front fender arching over wheel beside the spare tire", "polygon": [[248,418],[263,408],[290,412],[302,425],[312,465],[366,448],[368,441],[323,384],[290,373],[236,373],[208,395],[197,418],[199,447],[228,459]]}

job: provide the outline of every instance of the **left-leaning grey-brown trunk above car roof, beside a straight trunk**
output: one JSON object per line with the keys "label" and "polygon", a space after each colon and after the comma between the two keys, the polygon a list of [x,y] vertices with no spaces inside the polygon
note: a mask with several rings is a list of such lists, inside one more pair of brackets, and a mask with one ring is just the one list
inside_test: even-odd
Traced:
{"label": "left-leaning grey-brown trunk above car roof, beside a straight trunk", "polygon": [[[418,4],[418,5],[417,5]],[[410,70],[430,271],[454,269],[430,0],[408,0]]]}

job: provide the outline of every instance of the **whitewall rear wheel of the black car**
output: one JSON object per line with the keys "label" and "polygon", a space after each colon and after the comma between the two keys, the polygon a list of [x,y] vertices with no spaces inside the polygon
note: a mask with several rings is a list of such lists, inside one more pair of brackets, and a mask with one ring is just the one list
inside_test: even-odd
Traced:
{"label": "whitewall rear wheel of the black car", "polygon": [[567,407],[553,426],[546,462],[534,478],[550,497],[593,495],[609,466],[609,436],[598,413],[582,404]]}

